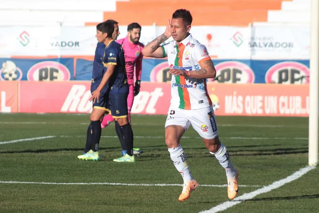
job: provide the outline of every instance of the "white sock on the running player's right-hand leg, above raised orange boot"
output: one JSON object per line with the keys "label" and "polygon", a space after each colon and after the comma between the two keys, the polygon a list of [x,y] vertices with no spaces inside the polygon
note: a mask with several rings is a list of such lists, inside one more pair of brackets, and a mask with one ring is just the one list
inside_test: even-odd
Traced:
{"label": "white sock on the running player's right-hand leg, above raised orange boot", "polygon": [[219,164],[225,169],[227,178],[233,178],[236,175],[236,170],[233,168],[232,160],[224,144],[220,143],[220,148],[216,153],[210,153],[215,155]]}

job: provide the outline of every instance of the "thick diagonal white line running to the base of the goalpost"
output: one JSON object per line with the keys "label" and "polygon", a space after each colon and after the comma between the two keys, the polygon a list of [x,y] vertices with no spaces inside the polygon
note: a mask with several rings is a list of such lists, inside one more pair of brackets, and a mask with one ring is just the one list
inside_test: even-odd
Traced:
{"label": "thick diagonal white line running to the base of the goalpost", "polygon": [[228,209],[236,204],[241,203],[242,201],[250,200],[250,199],[254,198],[255,196],[257,196],[258,194],[270,192],[273,189],[277,189],[280,186],[285,185],[286,183],[289,183],[293,180],[296,180],[314,168],[315,168],[315,166],[307,166],[307,167],[301,168],[299,171],[296,171],[295,173],[286,177],[285,179],[278,180],[278,181],[273,182],[272,184],[270,184],[268,186],[263,186],[263,188],[257,189],[255,191],[245,193],[239,197],[235,197],[234,200],[232,200],[232,201],[223,202],[223,203],[221,203],[221,204],[219,204],[219,205],[217,205],[209,210],[201,211],[200,213],[215,213],[215,212],[226,210],[226,209]]}

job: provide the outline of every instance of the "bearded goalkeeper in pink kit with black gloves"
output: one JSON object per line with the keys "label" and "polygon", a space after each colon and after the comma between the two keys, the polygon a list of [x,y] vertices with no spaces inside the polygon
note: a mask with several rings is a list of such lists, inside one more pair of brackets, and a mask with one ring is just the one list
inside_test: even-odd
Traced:
{"label": "bearded goalkeeper in pink kit with black gloves", "polygon": [[[125,67],[126,67],[126,75],[127,80],[129,83],[129,96],[127,98],[127,107],[128,107],[128,116],[129,121],[131,124],[131,108],[134,101],[134,96],[136,96],[140,91],[140,84],[141,84],[141,72],[142,72],[142,49],[144,45],[139,42],[139,39],[141,37],[141,29],[142,27],[138,23],[131,23],[127,26],[127,36],[125,38],[116,40],[117,43],[122,45],[122,48],[124,49],[124,56],[125,56]],[[134,72],[135,71],[135,72]],[[136,81],[134,82],[134,74]],[[101,127],[102,129],[106,126],[108,126],[112,121],[114,121],[114,118],[112,115],[108,114],[106,115],[102,122]],[[116,122],[115,122],[115,129],[116,128]],[[123,136],[120,134],[120,131],[116,131],[121,145],[122,145],[122,156],[126,154],[126,144],[122,143],[121,138]],[[141,154],[143,151],[139,148],[133,148],[134,154]]]}

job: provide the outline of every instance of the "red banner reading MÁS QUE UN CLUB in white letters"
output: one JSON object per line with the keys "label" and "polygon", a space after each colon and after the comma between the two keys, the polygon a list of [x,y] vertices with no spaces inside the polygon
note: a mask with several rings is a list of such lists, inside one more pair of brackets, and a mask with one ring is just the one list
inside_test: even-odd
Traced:
{"label": "red banner reading M\u00c1S QUE UN CLUB in white letters", "polygon": [[309,116],[309,85],[208,84],[215,115]]}

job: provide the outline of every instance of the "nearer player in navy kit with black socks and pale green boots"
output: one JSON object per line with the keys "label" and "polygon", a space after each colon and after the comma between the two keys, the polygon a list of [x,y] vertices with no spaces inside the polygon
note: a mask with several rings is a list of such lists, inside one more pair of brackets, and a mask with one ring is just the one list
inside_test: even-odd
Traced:
{"label": "nearer player in navy kit with black socks and pale green boots", "polygon": [[[92,97],[90,101],[93,101],[93,111],[90,115],[91,123],[87,130],[84,151],[87,152],[78,156],[78,158],[83,160],[99,160],[100,119],[108,111],[121,127],[127,145],[127,154],[121,158],[114,159],[114,161],[134,162],[133,132],[128,120],[127,110],[129,85],[126,77],[124,51],[121,45],[116,43],[112,38],[114,32],[113,23],[103,22],[98,24],[96,28],[96,37],[99,43],[95,52],[91,83]],[[99,45],[105,46],[103,55],[99,52],[101,51]],[[98,63],[99,60],[102,61],[103,69]]]}

